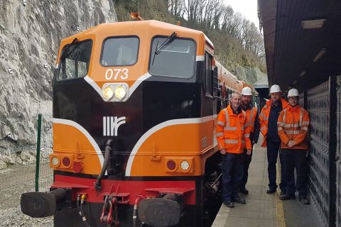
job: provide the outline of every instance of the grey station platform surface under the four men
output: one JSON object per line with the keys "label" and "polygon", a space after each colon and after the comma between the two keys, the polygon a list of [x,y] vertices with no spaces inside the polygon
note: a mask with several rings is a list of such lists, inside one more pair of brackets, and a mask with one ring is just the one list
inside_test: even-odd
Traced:
{"label": "grey station platform surface under the four men", "polygon": [[[277,171],[277,183],[279,174]],[[298,199],[281,201],[280,189],[274,194],[266,194],[268,184],[266,148],[256,145],[249,167],[249,194],[239,194],[247,204],[234,204],[234,208],[222,204],[212,227],[322,226],[313,204],[304,205]],[[297,195],[296,192],[296,198]]]}

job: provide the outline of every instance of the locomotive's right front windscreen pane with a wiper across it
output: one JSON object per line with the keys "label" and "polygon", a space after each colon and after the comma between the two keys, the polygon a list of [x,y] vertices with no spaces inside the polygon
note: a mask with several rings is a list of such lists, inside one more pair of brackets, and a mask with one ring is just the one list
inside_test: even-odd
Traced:
{"label": "locomotive's right front windscreen pane with a wiper across it", "polygon": [[195,69],[195,43],[175,38],[160,48],[166,37],[153,38],[149,72],[164,77],[193,77]]}

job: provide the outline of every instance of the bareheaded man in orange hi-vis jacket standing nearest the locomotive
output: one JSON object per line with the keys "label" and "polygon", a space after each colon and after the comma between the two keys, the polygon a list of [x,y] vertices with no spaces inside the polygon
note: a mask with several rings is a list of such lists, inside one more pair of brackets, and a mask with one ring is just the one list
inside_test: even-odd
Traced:
{"label": "bareheaded man in orange hi-vis jacket standing nearest the locomotive", "polygon": [[251,141],[248,122],[242,110],[242,96],[231,94],[231,104],[222,109],[217,116],[217,143],[222,156],[222,203],[234,207],[234,203],[245,204],[245,199],[239,197],[240,182],[243,177],[244,148],[251,153]]}

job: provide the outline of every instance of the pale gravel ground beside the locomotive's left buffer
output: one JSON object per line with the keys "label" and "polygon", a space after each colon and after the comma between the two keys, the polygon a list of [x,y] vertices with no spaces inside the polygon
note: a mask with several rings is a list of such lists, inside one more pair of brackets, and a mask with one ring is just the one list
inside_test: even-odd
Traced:
{"label": "pale gravel ground beside the locomotive's left buffer", "polygon": [[[47,163],[40,165],[39,192],[47,192],[53,182]],[[0,170],[0,226],[53,226],[53,218],[31,218],[21,212],[20,196],[34,192],[35,165],[13,165]]]}

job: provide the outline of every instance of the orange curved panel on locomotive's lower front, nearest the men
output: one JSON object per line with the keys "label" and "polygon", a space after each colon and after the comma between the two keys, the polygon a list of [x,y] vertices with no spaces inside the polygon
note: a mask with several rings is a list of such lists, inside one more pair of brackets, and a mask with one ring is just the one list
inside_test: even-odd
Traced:
{"label": "orange curved panel on locomotive's lower front, nearest the men", "polygon": [[[131,176],[200,176],[205,172],[205,160],[217,150],[213,149],[214,120],[167,126],[149,136],[137,151],[131,166]],[[203,143],[205,138],[205,143]],[[152,160],[153,149],[161,156]],[[207,155],[207,153],[211,153]],[[202,158],[204,157],[204,158]],[[177,163],[176,171],[169,171],[167,160]],[[180,170],[180,162],[188,160],[193,169]],[[203,165],[202,165],[203,163]]]}

